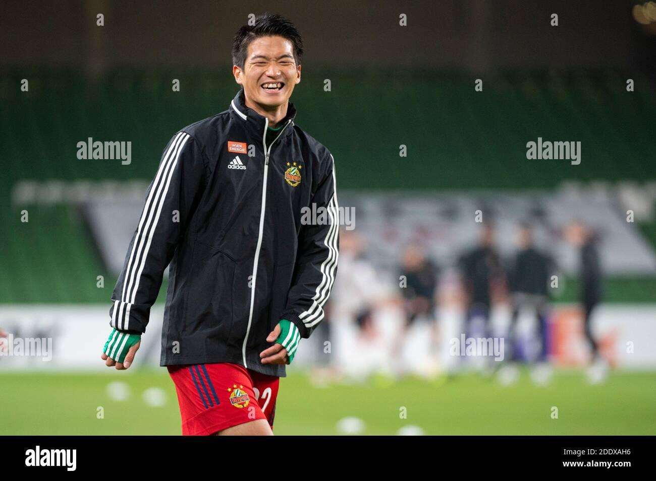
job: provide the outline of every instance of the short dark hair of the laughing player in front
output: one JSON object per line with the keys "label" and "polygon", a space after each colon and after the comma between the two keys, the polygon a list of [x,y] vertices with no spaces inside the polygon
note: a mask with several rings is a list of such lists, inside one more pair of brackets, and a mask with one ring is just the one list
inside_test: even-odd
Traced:
{"label": "short dark hair of the laughing player in front", "polygon": [[294,48],[296,65],[300,65],[303,58],[303,40],[300,33],[286,18],[268,13],[257,16],[254,25],[245,25],[237,30],[232,43],[232,64],[243,69],[251,42],[258,37],[268,37],[269,35],[278,35],[289,40]]}

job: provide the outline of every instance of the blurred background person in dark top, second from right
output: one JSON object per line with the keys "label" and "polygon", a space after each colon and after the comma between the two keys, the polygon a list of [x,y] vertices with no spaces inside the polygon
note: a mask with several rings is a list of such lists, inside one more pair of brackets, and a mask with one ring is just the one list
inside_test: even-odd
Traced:
{"label": "blurred background person in dark top, second from right", "polygon": [[[546,364],[548,337],[547,316],[549,302],[550,277],[556,272],[556,264],[547,253],[539,251],[535,247],[533,229],[529,224],[520,224],[517,232],[517,243],[519,251],[514,258],[508,272],[508,288],[512,302],[512,317],[508,327],[508,340],[505,344],[506,360],[509,364],[499,372],[505,383],[516,380],[518,370],[515,363],[520,359],[537,361],[535,369],[531,373],[533,381],[539,384],[548,382],[552,374],[550,367]],[[537,340],[539,340],[539,352],[537,356],[527,353],[524,343],[523,356],[520,356],[517,321],[521,313],[529,311],[533,319],[537,319]]]}

